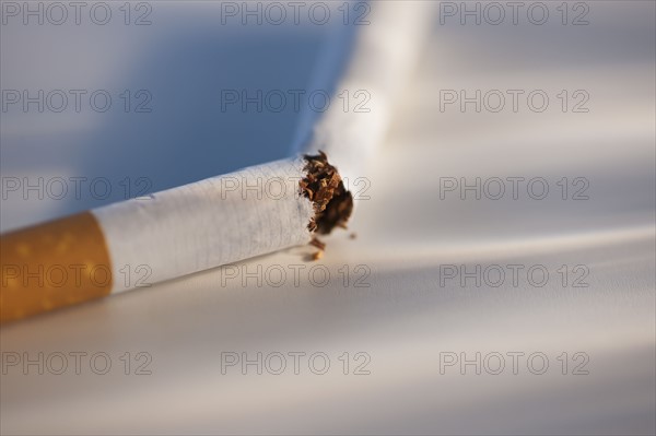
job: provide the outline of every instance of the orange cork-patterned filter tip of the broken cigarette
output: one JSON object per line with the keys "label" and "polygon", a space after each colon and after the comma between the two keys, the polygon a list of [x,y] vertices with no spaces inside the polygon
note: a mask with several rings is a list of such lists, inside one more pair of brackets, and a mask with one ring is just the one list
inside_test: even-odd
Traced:
{"label": "orange cork-patterned filter tip of the broken cigarette", "polygon": [[0,322],[105,296],[112,268],[91,212],[2,235]]}

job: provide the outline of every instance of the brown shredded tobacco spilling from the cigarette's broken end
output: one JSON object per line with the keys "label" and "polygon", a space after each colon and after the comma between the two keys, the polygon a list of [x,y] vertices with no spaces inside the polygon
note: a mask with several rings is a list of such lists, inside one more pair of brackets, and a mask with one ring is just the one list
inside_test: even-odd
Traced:
{"label": "brown shredded tobacco spilling from the cigarette's broken end", "polygon": [[[328,156],[321,151],[316,156],[304,157],[307,162],[304,168],[306,177],[298,185],[303,196],[314,203],[315,209],[315,216],[307,228],[324,235],[338,226],[347,228],[347,222],[353,211],[353,197],[344,188],[337,168],[328,163]],[[323,245],[320,241],[319,244]]]}

